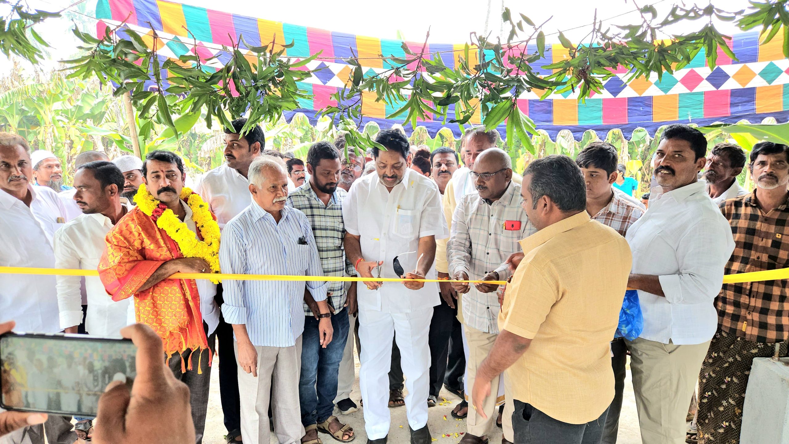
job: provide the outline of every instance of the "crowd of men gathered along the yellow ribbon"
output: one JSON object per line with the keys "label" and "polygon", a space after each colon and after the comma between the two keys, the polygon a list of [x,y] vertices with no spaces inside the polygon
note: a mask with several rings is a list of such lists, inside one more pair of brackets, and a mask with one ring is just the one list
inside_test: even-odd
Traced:
{"label": "crowd of men gathered along the yellow ribbon", "polygon": [[[398,405],[410,442],[431,444],[442,386],[462,399],[452,411],[466,418],[462,444],[488,443],[494,425],[503,444],[613,443],[628,353],[645,444],[735,443],[753,358],[779,343],[787,356],[787,280],[721,284],[789,267],[786,145],[708,155],[701,132],[671,125],[647,209],[600,141],[520,175],[481,128],[463,134],[460,156],[441,147],[413,163],[396,129],[369,153],[339,136],[301,161],[265,150],[260,127],[244,125],[225,129],[226,162],[193,194],[170,151],[82,153],[71,188],[54,155],[0,133],[0,266],[99,271],[0,274],[0,312],[44,333],[150,326],[189,387],[197,444],[214,353],[227,441],[247,444],[271,431],[282,444],[318,444],[319,432],[353,441],[335,407],[364,409],[368,443],[384,443]],[[362,280],[170,278],[218,270]],[[633,341],[614,338],[628,288],[644,320]],[[72,431],[50,416],[0,442],[91,438],[93,419],[75,420]]]}

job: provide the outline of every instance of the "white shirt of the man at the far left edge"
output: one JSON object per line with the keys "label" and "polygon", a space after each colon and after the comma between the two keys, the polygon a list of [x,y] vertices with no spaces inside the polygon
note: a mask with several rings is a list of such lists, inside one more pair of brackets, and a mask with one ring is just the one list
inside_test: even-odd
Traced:
{"label": "white shirt of the man at the far left edge", "polygon": [[[58,194],[28,185],[30,207],[0,190],[0,266],[53,268],[51,238],[62,213]],[[0,274],[0,319],[17,321],[17,331],[57,333],[58,297],[54,275]]]}

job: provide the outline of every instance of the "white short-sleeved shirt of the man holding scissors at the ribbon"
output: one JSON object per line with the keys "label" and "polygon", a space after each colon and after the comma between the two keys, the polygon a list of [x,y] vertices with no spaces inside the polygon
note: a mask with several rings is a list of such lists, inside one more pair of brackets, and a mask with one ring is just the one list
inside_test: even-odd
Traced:
{"label": "white short-sleeved shirt of the man holding scissors at the ribbon", "polygon": [[[361,237],[361,256],[369,261],[383,260],[382,278],[400,277],[392,265],[395,256],[404,271],[417,268],[420,237],[449,237],[438,186],[410,169],[391,192],[375,173],[354,182],[342,204],[342,218],[346,231]],[[404,255],[406,252],[410,254]],[[375,269],[372,273],[376,276]],[[425,278],[436,278],[435,263]],[[360,310],[389,313],[418,312],[440,302],[436,282],[425,282],[418,290],[406,289],[401,282],[383,282],[377,290],[358,285],[357,299]]]}

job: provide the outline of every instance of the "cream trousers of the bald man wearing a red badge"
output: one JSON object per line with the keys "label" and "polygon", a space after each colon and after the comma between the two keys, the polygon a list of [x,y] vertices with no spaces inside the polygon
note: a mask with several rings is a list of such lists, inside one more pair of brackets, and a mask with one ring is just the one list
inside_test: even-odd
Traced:
{"label": "cream trousers of the bald man wearing a red badge", "polygon": [[[485,398],[483,410],[488,419],[484,419],[480,412],[471,408],[473,399],[470,390],[474,386],[474,379],[477,377],[477,369],[480,368],[482,361],[488,357],[495,343],[495,338],[498,334],[485,333],[484,331],[477,330],[476,328],[463,325],[463,334],[466,337],[466,343],[469,345],[469,356],[466,359],[466,401],[469,401],[469,416],[466,417],[466,430],[470,435],[485,436],[491,431],[493,424],[495,424],[496,417],[499,416],[499,409],[497,405],[504,404],[504,411],[502,413],[502,429],[503,436],[507,441],[513,442],[514,434],[512,431],[512,412],[514,412],[514,404],[512,402],[512,395],[510,386],[504,375],[497,375],[491,380],[491,396]],[[499,390],[499,379],[504,379],[504,396],[497,397]]]}

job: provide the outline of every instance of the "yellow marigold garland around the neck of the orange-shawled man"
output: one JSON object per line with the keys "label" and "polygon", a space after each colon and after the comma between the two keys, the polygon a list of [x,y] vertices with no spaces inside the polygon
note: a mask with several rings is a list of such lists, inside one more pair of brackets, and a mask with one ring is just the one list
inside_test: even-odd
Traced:
{"label": "yellow marigold garland around the neck of the orange-shawled man", "polygon": [[192,230],[186,226],[185,222],[181,222],[181,219],[170,208],[156,200],[144,184],[141,184],[137,189],[134,201],[140,211],[154,218],[156,226],[163,229],[178,244],[178,248],[181,248],[181,253],[185,257],[204,259],[211,267],[212,273],[219,273],[219,225],[211,216],[208,203],[205,203],[200,196],[186,187],[181,190],[180,197],[192,210],[192,219],[197,229],[200,230],[202,241],[194,236]]}

